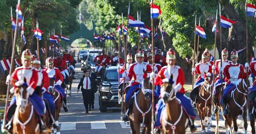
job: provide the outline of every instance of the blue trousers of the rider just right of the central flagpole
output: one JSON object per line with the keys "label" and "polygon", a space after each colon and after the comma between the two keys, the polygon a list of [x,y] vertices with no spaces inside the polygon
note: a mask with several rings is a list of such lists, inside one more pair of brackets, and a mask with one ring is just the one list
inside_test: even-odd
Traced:
{"label": "blue trousers of the rider just right of the central flagpole", "polygon": [[[196,117],[196,114],[194,112],[194,109],[191,105],[191,101],[189,98],[185,97],[184,94],[180,93],[180,92],[177,92],[176,93],[176,97],[177,99],[180,100],[180,105],[183,107],[183,109],[185,110],[186,114],[191,117],[192,119]],[[163,108],[165,108],[165,103],[163,103],[163,99],[160,99],[158,100],[157,102],[157,119],[156,119],[156,122],[155,122],[155,127],[156,128],[160,128],[161,126],[161,113],[162,113],[162,110]]]}

